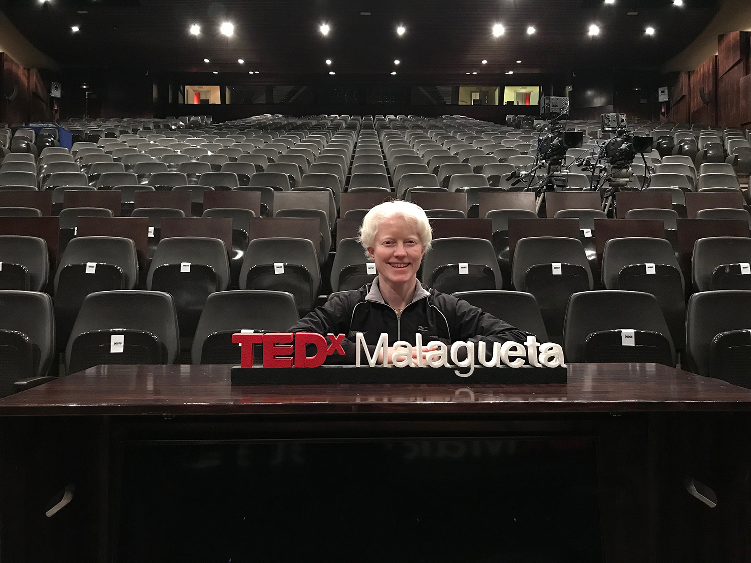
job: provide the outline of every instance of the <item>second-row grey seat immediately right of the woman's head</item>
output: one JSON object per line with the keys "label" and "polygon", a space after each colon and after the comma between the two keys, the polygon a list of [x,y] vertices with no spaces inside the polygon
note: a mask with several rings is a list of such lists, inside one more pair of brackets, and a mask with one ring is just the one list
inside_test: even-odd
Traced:
{"label": "second-row grey seat immediately right of the woman's head", "polygon": [[496,254],[486,239],[435,239],[422,267],[423,283],[441,293],[502,289]]}

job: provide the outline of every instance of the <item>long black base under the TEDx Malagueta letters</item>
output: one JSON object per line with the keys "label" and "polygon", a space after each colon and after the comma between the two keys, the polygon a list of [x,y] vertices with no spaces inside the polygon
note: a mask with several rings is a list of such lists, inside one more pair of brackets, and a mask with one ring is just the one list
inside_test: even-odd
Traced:
{"label": "long black base under the TEDx Malagueta letters", "polygon": [[[233,385],[294,384],[565,384],[566,368],[484,368],[475,367],[468,378],[456,375],[457,368],[384,368],[369,366],[321,366],[318,368],[231,369]],[[466,373],[467,369],[458,369]]]}

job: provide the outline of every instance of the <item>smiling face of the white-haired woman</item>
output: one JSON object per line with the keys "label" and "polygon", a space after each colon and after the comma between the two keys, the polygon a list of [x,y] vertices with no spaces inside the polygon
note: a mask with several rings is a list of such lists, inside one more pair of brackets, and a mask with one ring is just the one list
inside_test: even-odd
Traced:
{"label": "smiling face of the white-haired woman", "polygon": [[417,282],[425,248],[415,227],[401,217],[389,217],[379,225],[368,254],[375,262],[379,280],[410,287]]}

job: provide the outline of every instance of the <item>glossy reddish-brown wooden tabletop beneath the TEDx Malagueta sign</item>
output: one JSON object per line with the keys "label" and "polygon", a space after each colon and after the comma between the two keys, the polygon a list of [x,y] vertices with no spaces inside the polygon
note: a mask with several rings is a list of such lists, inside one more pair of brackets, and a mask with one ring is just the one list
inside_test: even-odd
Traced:
{"label": "glossy reddish-brown wooden tabletop beneath the TEDx Malagueta sign", "polygon": [[655,364],[572,364],[568,384],[232,387],[230,366],[97,366],[0,399],[0,415],[749,411],[751,390]]}

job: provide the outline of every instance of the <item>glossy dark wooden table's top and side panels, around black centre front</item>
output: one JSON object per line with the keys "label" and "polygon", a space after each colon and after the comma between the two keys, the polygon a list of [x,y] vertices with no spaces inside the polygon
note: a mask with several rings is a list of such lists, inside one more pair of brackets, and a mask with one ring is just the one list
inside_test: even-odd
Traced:
{"label": "glossy dark wooden table's top and side panels, around black centre front", "polygon": [[606,561],[749,561],[749,411],[751,390],[652,364],[537,386],[232,387],[228,366],[98,366],[0,400],[0,560],[111,561],[128,441],[484,435],[596,439]]}

